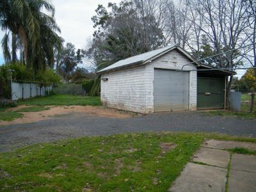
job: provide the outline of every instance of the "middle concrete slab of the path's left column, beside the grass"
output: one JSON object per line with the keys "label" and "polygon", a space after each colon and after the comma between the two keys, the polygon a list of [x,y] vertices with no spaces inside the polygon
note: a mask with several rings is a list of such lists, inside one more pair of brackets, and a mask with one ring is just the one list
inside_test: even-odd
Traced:
{"label": "middle concrete slab of the path's left column, beside the grass", "polygon": [[230,154],[225,150],[200,148],[200,150],[193,157],[193,161],[198,161],[214,166],[227,168]]}

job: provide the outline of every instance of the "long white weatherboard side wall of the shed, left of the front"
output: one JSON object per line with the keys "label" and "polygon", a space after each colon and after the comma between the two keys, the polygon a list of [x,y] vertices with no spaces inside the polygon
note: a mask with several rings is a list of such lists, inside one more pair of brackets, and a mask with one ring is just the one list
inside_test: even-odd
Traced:
{"label": "long white weatherboard side wall of the shed, left of the front", "polygon": [[102,74],[100,99],[111,108],[146,113],[145,66]]}

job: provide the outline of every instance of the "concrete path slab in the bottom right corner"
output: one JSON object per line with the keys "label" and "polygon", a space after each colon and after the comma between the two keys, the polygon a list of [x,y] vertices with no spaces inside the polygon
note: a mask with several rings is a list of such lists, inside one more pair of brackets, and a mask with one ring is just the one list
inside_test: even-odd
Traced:
{"label": "concrete path slab in the bottom right corner", "polygon": [[230,170],[228,179],[228,192],[255,192],[256,173]]}

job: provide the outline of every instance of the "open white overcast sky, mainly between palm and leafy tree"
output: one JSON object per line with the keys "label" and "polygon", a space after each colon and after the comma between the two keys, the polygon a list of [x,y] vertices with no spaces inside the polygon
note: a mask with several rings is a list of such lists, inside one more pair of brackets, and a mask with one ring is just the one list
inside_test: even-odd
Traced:
{"label": "open white overcast sky, mainly between palm and leafy tree", "polygon": [[[92,36],[93,22],[91,18],[95,15],[98,4],[108,6],[108,3],[119,3],[120,0],[52,0],[55,6],[56,22],[61,29],[61,37],[65,42],[71,42],[77,49],[86,46],[86,40]],[[0,40],[4,32],[0,30]],[[4,63],[3,51],[0,46],[0,65]],[[237,71],[239,77],[244,74],[244,70]]]}

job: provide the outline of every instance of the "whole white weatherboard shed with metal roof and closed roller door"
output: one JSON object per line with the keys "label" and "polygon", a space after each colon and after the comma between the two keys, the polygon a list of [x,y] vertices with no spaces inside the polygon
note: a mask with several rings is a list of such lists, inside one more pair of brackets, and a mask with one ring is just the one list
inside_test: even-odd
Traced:
{"label": "whole white weatherboard shed with metal roof and closed roller door", "polygon": [[195,111],[196,68],[202,65],[186,65],[191,61],[177,45],[118,61],[98,72],[101,102],[138,113]]}

